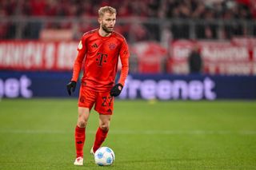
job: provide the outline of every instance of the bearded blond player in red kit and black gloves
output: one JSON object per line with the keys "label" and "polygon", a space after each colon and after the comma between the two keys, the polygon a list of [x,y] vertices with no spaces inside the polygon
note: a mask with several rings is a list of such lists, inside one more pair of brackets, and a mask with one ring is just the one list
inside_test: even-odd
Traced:
{"label": "bearded blond player in red kit and black gloves", "polygon": [[[66,85],[68,93],[74,93],[78,75],[84,61],[84,72],[78,98],[78,123],[75,128],[75,165],[83,165],[83,146],[86,140],[86,125],[90,110],[94,106],[99,114],[99,127],[95,135],[94,154],[106,139],[114,112],[114,97],[125,84],[129,69],[129,50],[126,39],[114,31],[116,10],[110,6],[98,10],[99,28],[82,35],[78,45],[78,55],[74,61],[73,76]],[[118,59],[122,63],[121,75],[114,85],[118,69]]]}

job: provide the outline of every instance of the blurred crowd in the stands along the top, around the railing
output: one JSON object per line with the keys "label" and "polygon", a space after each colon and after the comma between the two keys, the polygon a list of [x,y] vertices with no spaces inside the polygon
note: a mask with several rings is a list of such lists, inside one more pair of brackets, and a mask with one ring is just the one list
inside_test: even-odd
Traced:
{"label": "blurred crowd in the stands along the top, around the railing", "polygon": [[[255,20],[255,0],[1,0],[0,18],[6,16],[33,17],[91,17],[98,16],[100,6],[114,6],[118,18],[142,17],[172,19],[170,32],[173,38],[190,38],[191,25],[180,20],[203,20],[194,26],[195,38],[219,38],[219,28],[212,20]],[[177,22],[176,22],[177,21]],[[71,23],[48,23],[44,28],[68,29]],[[80,23],[78,32],[85,32],[94,26]],[[0,22],[0,38],[13,38],[16,26],[13,23]],[[40,23],[28,23],[22,32],[22,38],[38,38],[42,29]],[[151,38],[160,39],[159,25],[146,23],[118,25],[116,30],[125,36],[133,33],[137,41]],[[154,33],[152,34],[152,30]],[[246,35],[247,28],[241,22],[227,23],[223,26],[222,38],[234,35]],[[253,28],[254,34],[256,29]],[[34,34],[31,34],[34,33]]]}

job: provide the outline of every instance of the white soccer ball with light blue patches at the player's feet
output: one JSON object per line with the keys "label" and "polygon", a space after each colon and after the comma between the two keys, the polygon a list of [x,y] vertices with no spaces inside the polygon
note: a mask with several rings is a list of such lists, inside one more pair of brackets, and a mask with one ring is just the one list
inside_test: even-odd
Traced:
{"label": "white soccer ball with light blue patches at the player's feet", "polygon": [[109,166],[114,163],[114,152],[111,148],[101,147],[94,154],[95,164]]}

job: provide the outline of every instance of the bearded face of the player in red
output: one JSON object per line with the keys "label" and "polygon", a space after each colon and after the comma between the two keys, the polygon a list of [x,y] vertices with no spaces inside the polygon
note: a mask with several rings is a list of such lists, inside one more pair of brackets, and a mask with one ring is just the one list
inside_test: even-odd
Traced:
{"label": "bearded face of the player in red", "polygon": [[114,30],[115,20],[116,14],[105,13],[102,18],[99,18],[102,30],[104,30],[106,33],[112,33]]}

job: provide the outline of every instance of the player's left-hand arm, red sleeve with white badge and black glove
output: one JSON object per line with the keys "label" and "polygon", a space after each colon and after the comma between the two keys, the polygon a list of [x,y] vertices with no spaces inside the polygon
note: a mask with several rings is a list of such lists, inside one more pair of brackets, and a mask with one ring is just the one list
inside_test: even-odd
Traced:
{"label": "player's left-hand arm, red sleeve with white badge and black glove", "polygon": [[86,46],[84,42],[85,42],[84,38],[82,38],[82,40],[79,42],[78,55],[74,61],[73,75],[72,75],[71,81],[66,85],[66,89],[69,95],[71,95],[71,91],[74,93],[74,90],[78,81],[79,73],[82,67],[82,61],[86,56]]}

